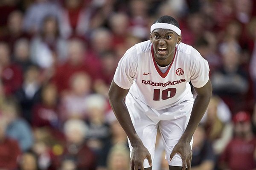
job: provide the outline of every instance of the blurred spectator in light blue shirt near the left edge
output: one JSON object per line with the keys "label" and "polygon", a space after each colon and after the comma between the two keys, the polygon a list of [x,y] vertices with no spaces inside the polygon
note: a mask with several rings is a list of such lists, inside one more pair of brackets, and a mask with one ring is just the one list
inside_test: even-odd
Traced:
{"label": "blurred spectator in light blue shirt near the left edge", "polygon": [[19,116],[17,103],[13,99],[6,99],[2,114],[6,118],[6,135],[17,140],[21,151],[29,150],[33,145],[32,129],[23,118]]}

